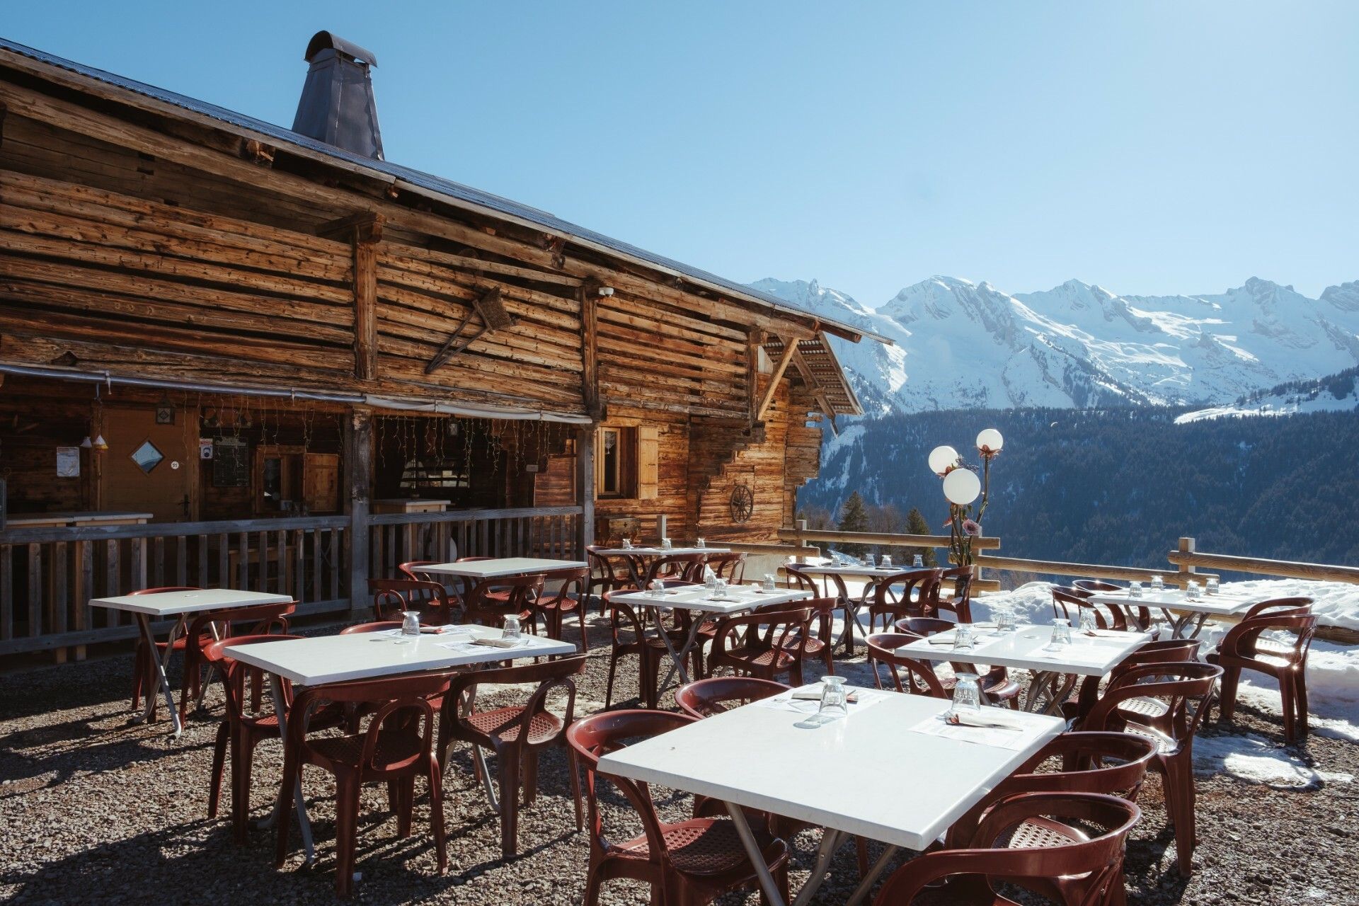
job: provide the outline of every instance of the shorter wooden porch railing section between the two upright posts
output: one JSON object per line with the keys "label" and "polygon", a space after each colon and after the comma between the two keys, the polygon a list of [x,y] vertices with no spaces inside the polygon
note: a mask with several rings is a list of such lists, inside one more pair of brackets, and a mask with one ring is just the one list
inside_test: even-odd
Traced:
{"label": "shorter wooden porch railing section between the two upright posts", "polygon": [[390,577],[410,560],[546,557],[583,560],[583,507],[457,509],[368,518],[370,575]]}

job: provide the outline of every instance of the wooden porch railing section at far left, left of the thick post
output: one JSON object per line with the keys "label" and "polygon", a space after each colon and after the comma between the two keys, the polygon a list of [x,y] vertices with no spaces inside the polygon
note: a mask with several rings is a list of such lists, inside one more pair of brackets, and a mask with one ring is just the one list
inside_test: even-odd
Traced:
{"label": "wooden porch railing section at far left, left of the thick post", "polygon": [[0,532],[0,655],[118,641],[128,614],[91,598],[160,585],[291,595],[299,613],[348,610],[345,516],[18,528]]}

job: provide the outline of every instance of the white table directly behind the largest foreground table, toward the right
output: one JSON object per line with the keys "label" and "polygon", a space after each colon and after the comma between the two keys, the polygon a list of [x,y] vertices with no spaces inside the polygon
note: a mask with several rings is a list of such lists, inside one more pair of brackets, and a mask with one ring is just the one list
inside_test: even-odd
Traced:
{"label": "white table directly behind the largest foreground table, toward the right", "polygon": [[1086,636],[1079,628],[1071,629],[1071,644],[1057,651],[1044,651],[1052,640],[1052,626],[1021,625],[1015,632],[998,636],[993,630],[974,629],[972,648],[953,647],[954,630],[913,641],[897,648],[906,657],[934,662],[981,663],[1027,670],[1031,682],[1026,695],[1029,710],[1037,710],[1044,701],[1046,713],[1059,713],[1061,701],[1074,682],[1060,686],[1063,676],[1104,676],[1123,659],[1151,640],[1151,633],[1099,629]]}

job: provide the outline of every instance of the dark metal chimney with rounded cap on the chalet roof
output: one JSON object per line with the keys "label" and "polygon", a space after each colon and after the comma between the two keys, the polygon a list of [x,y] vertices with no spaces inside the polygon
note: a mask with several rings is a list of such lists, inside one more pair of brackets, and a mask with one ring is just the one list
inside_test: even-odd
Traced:
{"label": "dark metal chimney with rounded cap on the chalet roof", "polygon": [[307,45],[306,60],[311,68],[292,130],[382,160],[378,106],[368,76],[378,58],[356,43],[318,31]]}

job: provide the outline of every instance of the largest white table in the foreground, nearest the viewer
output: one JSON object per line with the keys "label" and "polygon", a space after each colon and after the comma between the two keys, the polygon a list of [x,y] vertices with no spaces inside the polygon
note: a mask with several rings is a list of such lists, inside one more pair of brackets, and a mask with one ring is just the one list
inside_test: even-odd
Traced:
{"label": "largest white table in the foreground, nearest the viewer", "polygon": [[[848,835],[887,844],[887,853],[851,898],[853,903],[867,895],[898,848],[930,846],[1000,780],[1065,729],[1056,717],[988,709],[1023,729],[1004,747],[965,742],[916,729],[947,710],[946,701],[859,691],[881,700],[860,705],[863,710],[858,712],[856,705],[849,705],[847,719],[822,727],[809,727],[805,714],[753,702],[610,753],[599,759],[599,770],[724,801],[765,895],[780,906],[783,898],[762,868],[764,858],[741,807],[826,829],[798,903],[815,894],[830,857]],[[845,765],[877,763],[887,753],[909,753],[912,761],[943,769],[905,796],[849,793],[837,782]]]}

